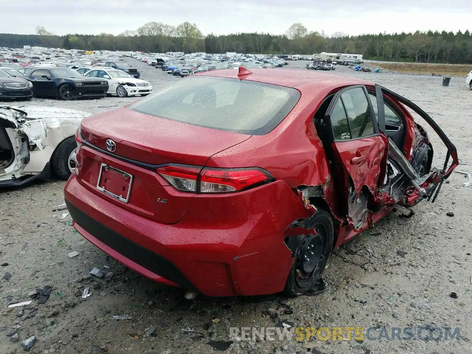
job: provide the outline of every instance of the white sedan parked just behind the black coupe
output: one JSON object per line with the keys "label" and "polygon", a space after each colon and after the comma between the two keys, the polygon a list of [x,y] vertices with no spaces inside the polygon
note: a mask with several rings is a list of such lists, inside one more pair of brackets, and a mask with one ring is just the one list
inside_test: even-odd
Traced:
{"label": "white sedan parked just behind the black coupe", "polygon": [[152,93],[152,85],[149,81],[136,79],[126,74],[123,70],[106,67],[93,68],[87,71],[86,77],[100,77],[108,81],[107,94],[116,94],[118,97],[142,95]]}

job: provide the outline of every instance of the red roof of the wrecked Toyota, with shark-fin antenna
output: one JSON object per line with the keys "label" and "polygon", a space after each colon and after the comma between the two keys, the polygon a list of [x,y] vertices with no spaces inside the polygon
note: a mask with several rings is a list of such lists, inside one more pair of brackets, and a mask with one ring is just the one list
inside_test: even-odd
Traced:
{"label": "red roof of the wrecked Toyota, with shark-fin antenna", "polygon": [[[327,73],[320,73],[308,70],[271,70],[256,69],[252,74],[245,76],[244,80],[263,82],[266,84],[275,84],[279,86],[287,86],[294,88],[302,88],[303,90],[316,90],[318,92],[325,89],[335,89],[338,87],[349,85],[373,85],[371,82],[354,79],[352,77],[337,76]],[[240,79],[238,71],[234,69],[220,69],[212,71],[204,71],[197,76],[219,76]]]}

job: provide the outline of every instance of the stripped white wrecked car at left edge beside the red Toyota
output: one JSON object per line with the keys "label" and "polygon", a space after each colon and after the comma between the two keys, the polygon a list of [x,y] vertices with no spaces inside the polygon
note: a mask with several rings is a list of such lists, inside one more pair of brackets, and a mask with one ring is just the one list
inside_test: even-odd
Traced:
{"label": "stripped white wrecked car at left edge beside the red Toyota", "polygon": [[75,169],[76,130],[92,114],[42,106],[0,105],[0,187],[21,186]]}

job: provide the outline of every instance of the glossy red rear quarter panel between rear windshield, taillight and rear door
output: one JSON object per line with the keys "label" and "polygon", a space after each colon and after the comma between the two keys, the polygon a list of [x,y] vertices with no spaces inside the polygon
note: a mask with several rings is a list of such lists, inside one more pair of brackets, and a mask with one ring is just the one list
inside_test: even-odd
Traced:
{"label": "glossy red rear quarter panel between rear windshield, taillight and rear door", "polygon": [[313,124],[313,114],[329,91],[304,93],[287,117],[270,133],[253,135],[211,156],[211,167],[261,167],[291,188],[322,185],[329,177],[328,161]]}

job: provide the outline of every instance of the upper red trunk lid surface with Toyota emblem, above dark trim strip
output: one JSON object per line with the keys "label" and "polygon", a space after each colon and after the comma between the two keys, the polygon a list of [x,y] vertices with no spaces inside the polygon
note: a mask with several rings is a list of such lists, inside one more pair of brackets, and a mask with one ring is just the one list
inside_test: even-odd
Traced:
{"label": "upper red trunk lid surface with Toyota emblem, above dark trim strip", "polygon": [[107,151],[106,141],[116,144],[114,154],[152,165],[185,163],[204,166],[208,158],[250,135],[194,126],[120,108],[85,118],[80,133],[85,141]]}

